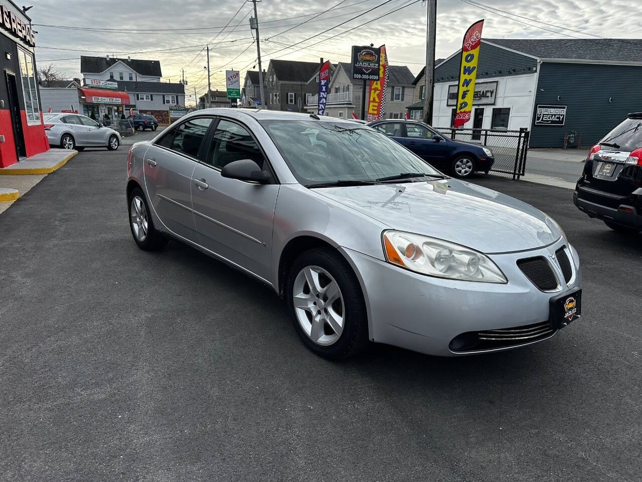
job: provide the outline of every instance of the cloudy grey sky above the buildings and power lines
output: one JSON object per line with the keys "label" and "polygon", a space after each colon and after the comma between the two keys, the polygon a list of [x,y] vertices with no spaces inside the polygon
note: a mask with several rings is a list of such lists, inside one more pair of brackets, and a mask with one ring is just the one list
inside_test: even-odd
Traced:
{"label": "cloudy grey sky above the buildings and power lines", "polygon": [[[131,55],[160,60],[165,81],[177,82],[185,69],[187,89],[193,93],[196,87],[200,95],[207,89],[205,44],[211,49],[213,89],[225,87],[225,69],[241,70],[243,78],[244,71],[256,64],[256,44],[248,26],[252,3],[246,0],[32,0],[26,4],[33,5],[28,14],[38,31],[39,67],[53,63],[68,78],[80,77],[80,55]],[[377,5],[381,6],[366,13]],[[385,43],[390,63],[407,65],[413,73],[421,70],[426,55],[426,6],[419,0],[263,0],[257,9],[264,69],[270,58],[348,61],[352,45],[370,42]],[[589,34],[634,38],[639,37],[642,1],[438,0],[437,57],[448,57],[460,48],[465,29],[481,18],[486,19],[483,37],[487,38],[586,38]],[[189,102],[193,100],[188,98]]]}

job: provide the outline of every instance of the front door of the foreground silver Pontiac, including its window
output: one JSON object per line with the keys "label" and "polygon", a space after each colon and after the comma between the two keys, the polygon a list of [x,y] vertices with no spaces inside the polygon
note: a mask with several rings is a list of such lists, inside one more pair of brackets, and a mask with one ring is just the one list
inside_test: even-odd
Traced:
{"label": "front door of the foreground silver Pontiac, including its window", "polygon": [[199,243],[263,280],[270,279],[272,221],[279,184],[257,184],[221,176],[232,161],[252,159],[270,170],[250,130],[220,119],[207,158],[196,166],[192,202]]}

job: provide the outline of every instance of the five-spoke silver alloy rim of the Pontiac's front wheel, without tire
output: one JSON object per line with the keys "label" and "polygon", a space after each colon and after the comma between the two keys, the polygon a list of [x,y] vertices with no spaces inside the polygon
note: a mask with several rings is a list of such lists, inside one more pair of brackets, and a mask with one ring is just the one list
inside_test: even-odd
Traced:
{"label": "five-spoke silver alloy rim of the Pontiac's front wheel, without tire", "polygon": [[338,341],[345,327],[345,305],[339,285],[322,267],[306,266],[294,280],[297,321],[309,339],[321,346]]}

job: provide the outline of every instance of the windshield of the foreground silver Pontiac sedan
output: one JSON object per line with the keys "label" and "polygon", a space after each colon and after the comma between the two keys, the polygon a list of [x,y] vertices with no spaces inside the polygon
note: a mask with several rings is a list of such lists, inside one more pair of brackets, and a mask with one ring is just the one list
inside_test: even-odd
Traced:
{"label": "windshield of the foreground silver Pontiac sedan", "polygon": [[402,173],[440,173],[384,134],[346,122],[261,121],[297,180],[305,186],[375,181]]}

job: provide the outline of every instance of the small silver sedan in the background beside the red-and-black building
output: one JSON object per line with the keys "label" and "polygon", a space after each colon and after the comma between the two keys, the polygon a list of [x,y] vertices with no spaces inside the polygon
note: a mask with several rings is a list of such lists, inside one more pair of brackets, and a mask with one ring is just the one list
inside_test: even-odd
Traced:
{"label": "small silver sedan in the background beside the red-and-black building", "polygon": [[49,145],[64,149],[83,150],[85,147],[107,147],[116,150],[121,136],[116,130],[81,114],[44,114],[44,131]]}

